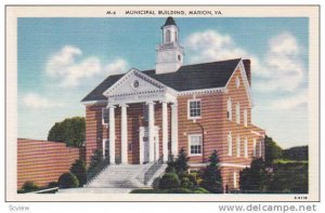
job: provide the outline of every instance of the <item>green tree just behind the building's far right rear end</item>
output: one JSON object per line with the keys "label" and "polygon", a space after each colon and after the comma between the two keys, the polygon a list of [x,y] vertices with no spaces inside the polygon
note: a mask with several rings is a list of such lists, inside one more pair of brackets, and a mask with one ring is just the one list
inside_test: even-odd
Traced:
{"label": "green tree just behind the building's far right rear end", "polygon": [[266,167],[272,165],[273,161],[275,159],[282,158],[282,148],[272,139],[272,137],[269,137],[265,135],[264,138],[265,143],[265,164]]}

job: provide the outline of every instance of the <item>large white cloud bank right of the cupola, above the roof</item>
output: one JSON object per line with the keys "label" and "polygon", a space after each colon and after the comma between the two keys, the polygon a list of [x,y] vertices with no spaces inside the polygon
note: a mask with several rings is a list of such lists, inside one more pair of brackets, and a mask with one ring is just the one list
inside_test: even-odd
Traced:
{"label": "large white cloud bank right of the cupola, above the roof", "polygon": [[251,61],[252,75],[256,77],[253,90],[259,93],[286,93],[287,97],[272,104],[292,108],[307,102],[306,93],[297,90],[303,88],[307,69],[302,63],[302,48],[289,32],[271,38],[269,50],[264,55],[255,56],[239,48],[229,35],[214,30],[195,32],[185,39],[185,48],[191,53],[191,63],[233,59],[236,57]]}

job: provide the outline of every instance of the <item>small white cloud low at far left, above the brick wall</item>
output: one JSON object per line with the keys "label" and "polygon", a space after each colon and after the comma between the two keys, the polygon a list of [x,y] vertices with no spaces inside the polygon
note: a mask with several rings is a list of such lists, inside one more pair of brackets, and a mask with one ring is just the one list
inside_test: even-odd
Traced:
{"label": "small white cloud low at far left, above the brick wall", "polygon": [[32,109],[43,109],[43,108],[53,108],[53,107],[61,107],[63,104],[52,102],[46,97],[41,97],[35,93],[28,93],[23,97],[23,103],[25,106],[32,108]]}

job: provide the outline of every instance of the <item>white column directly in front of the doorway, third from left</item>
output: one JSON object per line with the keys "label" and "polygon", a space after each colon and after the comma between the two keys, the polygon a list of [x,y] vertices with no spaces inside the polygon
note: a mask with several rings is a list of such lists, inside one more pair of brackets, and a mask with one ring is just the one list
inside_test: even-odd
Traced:
{"label": "white column directly in front of the doorway, third from left", "polygon": [[150,102],[148,105],[148,144],[150,144],[150,162],[154,162],[155,159],[155,147],[154,147],[154,137],[155,137],[155,103]]}

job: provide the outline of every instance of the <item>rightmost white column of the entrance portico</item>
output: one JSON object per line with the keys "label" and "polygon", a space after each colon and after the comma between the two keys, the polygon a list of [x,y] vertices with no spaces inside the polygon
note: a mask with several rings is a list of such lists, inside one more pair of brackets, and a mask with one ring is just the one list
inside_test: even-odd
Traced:
{"label": "rightmost white column of the entrance portico", "polygon": [[179,152],[179,118],[178,118],[178,105],[173,103],[171,105],[171,154],[177,157]]}

